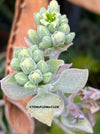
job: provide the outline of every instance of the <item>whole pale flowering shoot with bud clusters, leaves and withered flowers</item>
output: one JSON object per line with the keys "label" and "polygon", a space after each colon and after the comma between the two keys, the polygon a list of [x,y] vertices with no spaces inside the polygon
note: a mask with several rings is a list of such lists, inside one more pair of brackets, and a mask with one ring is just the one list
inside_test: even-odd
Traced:
{"label": "whole pale flowering shoot with bud clusters, leaves and withered flowers", "polygon": [[[1,80],[3,92],[14,100],[34,95],[27,103],[27,111],[48,126],[54,119],[68,133],[73,133],[68,128],[93,133],[100,91],[84,87],[87,69],[70,68],[71,64],[57,59],[75,37],[66,15],[60,14],[57,1],[52,0],[47,10],[42,7],[34,14],[34,21],[37,30],[29,29],[29,38],[25,38],[28,48],[14,50],[11,67],[16,73]],[[58,116],[60,121],[55,119]]]}

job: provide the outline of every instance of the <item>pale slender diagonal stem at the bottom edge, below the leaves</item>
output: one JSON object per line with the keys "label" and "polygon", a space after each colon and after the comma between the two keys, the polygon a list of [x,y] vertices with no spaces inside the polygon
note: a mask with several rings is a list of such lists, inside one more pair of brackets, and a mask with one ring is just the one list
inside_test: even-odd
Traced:
{"label": "pale slender diagonal stem at the bottom edge, below the leaves", "polygon": [[54,121],[55,124],[57,124],[67,134],[75,134],[74,132],[69,130],[67,127],[65,127],[58,119],[54,118],[53,121]]}

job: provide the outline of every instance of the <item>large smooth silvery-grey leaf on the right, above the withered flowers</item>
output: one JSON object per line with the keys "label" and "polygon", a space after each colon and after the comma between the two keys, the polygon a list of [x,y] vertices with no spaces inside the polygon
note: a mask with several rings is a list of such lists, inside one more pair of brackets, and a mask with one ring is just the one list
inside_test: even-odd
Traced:
{"label": "large smooth silvery-grey leaf on the right, above the withered flowers", "polygon": [[87,79],[87,69],[66,69],[61,73],[53,86],[55,90],[61,90],[64,93],[73,93],[82,89]]}

